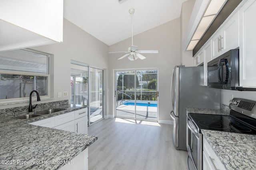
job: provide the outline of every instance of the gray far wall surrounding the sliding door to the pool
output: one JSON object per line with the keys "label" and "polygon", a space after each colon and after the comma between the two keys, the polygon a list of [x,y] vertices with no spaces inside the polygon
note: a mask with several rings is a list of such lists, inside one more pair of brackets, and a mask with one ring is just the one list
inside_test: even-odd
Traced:
{"label": "gray far wall surrounding the sliding door to the pool", "polygon": [[[109,51],[127,51],[131,38],[111,45]],[[126,58],[117,60],[122,53],[109,54],[108,102],[109,114],[114,114],[114,70],[126,68],[158,68],[159,119],[170,121],[171,74],[175,65],[180,64],[180,18],[134,36],[134,45],[141,50],[158,50],[158,54],[143,54],[146,59],[130,61]]]}

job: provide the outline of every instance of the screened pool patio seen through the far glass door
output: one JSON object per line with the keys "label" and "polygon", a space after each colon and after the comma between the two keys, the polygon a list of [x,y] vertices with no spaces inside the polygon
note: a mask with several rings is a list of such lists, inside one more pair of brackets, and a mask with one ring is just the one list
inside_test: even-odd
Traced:
{"label": "screened pool patio seen through the far glass door", "polygon": [[157,121],[157,69],[116,71],[116,117]]}

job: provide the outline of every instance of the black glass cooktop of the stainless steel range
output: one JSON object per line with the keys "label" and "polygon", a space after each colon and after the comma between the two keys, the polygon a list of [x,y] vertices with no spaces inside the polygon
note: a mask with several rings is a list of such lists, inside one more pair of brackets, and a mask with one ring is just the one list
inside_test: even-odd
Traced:
{"label": "black glass cooktop of the stainless steel range", "polygon": [[[235,111],[230,111],[230,115],[209,115],[197,113],[188,113],[188,115],[192,118],[192,121],[196,124],[199,131],[200,129],[207,129],[256,135],[256,120]],[[248,122],[249,124],[252,124],[248,125]]]}

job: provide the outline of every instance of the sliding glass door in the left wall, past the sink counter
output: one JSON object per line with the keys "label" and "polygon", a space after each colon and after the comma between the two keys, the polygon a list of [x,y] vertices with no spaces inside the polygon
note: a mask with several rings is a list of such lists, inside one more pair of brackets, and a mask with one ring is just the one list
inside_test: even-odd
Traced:
{"label": "sliding glass door in the left wall, past the sink counter", "polygon": [[88,125],[103,118],[103,70],[72,62],[70,71],[73,106],[88,107]]}

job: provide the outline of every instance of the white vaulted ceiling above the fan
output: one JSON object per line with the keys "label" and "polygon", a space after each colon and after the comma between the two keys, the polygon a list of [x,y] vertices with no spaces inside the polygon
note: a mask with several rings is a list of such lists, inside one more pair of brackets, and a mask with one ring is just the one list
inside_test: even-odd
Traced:
{"label": "white vaulted ceiling above the fan", "polygon": [[186,0],[64,0],[64,18],[107,45],[180,17]]}

